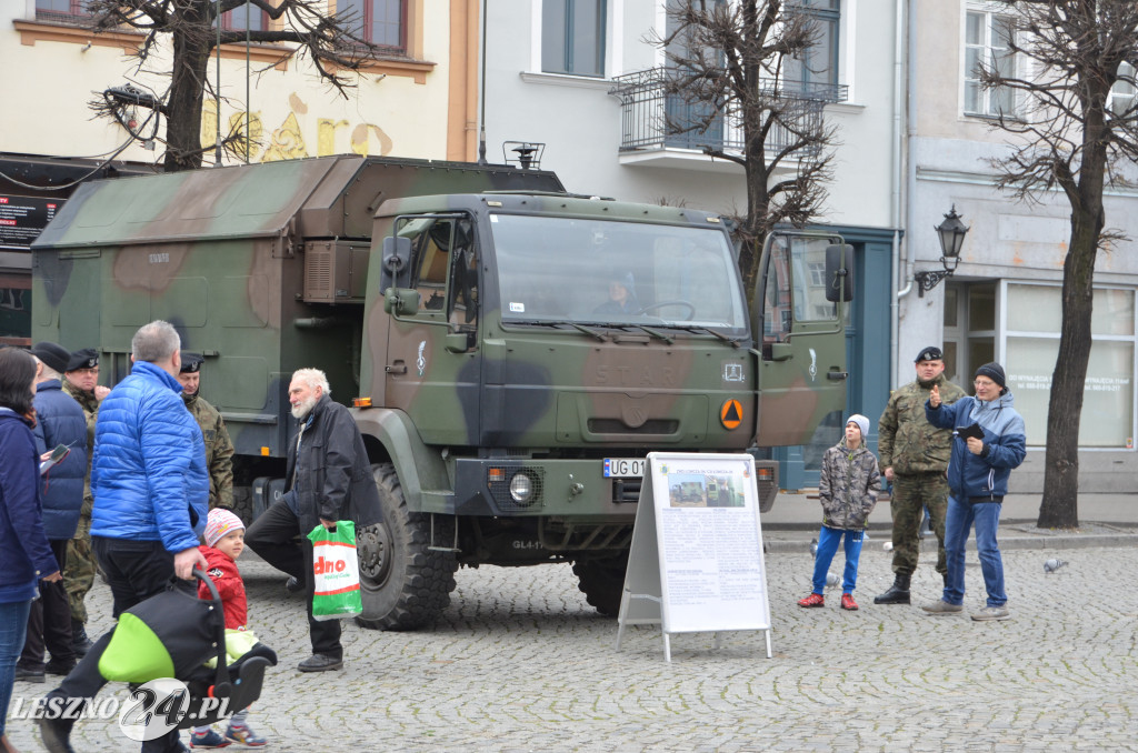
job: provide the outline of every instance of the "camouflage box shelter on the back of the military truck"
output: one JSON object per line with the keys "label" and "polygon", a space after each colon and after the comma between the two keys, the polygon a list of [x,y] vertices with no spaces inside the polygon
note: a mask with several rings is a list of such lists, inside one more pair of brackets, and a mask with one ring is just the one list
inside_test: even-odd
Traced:
{"label": "camouflage box shelter on the back of the military truck", "polygon": [[563,189],[543,171],[356,156],[89,183],[33,245],[33,340],[94,347],[115,384],[138,328],[170,321],[205,355],[201,394],[238,455],[281,458],[292,371],[356,395],[377,208],[492,190]]}

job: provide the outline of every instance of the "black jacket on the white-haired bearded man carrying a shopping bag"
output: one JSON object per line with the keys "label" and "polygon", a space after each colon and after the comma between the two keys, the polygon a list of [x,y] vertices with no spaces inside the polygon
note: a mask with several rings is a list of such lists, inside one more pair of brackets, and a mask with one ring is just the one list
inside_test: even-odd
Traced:
{"label": "black jacket on the white-haired bearded man carrying a shopping bag", "polygon": [[324,520],[355,521],[356,529],[382,519],[379,490],[371,474],[360,428],[348,409],[327,395],[303,421],[300,448],[288,448],[289,490],[296,495],[300,532]]}

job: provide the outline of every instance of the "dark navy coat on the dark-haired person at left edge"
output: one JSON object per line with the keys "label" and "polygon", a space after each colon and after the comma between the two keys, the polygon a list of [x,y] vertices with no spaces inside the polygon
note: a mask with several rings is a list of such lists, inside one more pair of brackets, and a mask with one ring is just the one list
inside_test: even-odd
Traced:
{"label": "dark navy coat on the dark-haired person at left edge", "polygon": [[0,408],[0,604],[31,601],[59,570],[40,519],[40,458],[24,417]]}

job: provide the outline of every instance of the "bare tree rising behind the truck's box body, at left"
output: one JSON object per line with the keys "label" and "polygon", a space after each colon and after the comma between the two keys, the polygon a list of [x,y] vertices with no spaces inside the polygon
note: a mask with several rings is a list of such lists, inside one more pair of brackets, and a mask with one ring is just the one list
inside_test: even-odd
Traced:
{"label": "bare tree rising behind the truck's box body, at left", "polygon": [[[201,104],[207,90],[216,96],[208,76],[209,59],[217,44],[215,24],[220,14],[238,8],[244,13],[246,2],[253,13],[264,11],[274,22],[273,28],[250,30],[250,42],[288,45],[281,60],[306,55],[320,78],[344,96],[353,85],[353,77],[346,74],[358,72],[382,49],[358,35],[357,18],[353,15],[329,14],[327,0],[86,0],[84,7],[96,32],[127,27],[145,34],[134,53],[139,68],[166,48],[172,56],[170,88],[163,96],[148,96],[131,86],[116,88],[92,101],[92,109],[114,117],[135,135],[139,135],[137,124],[126,122],[124,108],[152,109],[150,117],[160,114],[166,118],[165,169],[200,167],[206,151],[200,143]],[[245,30],[221,31],[222,44],[245,41]],[[230,133],[225,141],[244,139],[244,134]]]}

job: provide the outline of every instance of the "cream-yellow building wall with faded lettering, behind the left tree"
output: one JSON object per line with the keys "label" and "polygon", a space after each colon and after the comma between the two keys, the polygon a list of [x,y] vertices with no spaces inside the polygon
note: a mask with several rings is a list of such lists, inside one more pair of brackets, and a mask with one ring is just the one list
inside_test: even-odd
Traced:
{"label": "cream-yellow building wall with faded lettering, behind the left tree", "polygon": [[[463,26],[456,39],[477,30],[477,2],[410,0],[409,60],[380,60],[355,81],[347,98],[321,82],[307,58],[274,65],[280,48],[254,45],[246,65],[244,45],[225,45],[221,60],[223,135],[230,127],[244,133],[249,113],[254,146],[250,162],[318,157],[331,154],[384,155],[429,159],[471,157],[470,56],[459,45],[451,65],[452,18]],[[17,6],[17,7],[14,7]],[[18,13],[17,13],[18,11]],[[86,30],[34,19],[34,3],[0,3],[0,66],[22,72],[7,75],[5,107],[0,108],[0,151],[35,155],[109,156],[126,143],[127,132],[99,118],[88,102],[109,86],[133,83],[162,94],[168,78],[147,71],[170,68],[166,50],[151,57],[146,71],[126,57],[139,35],[129,32],[93,34]],[[215,80],[211,59],[208,76]],[[246,82],[248,81],[248,107]],[[208,96],[208,92],[207,92]],[[213,163],[217,106],[204,102],[201,143]],[[454,111],[452,111],[454,110]],[[149,110],[141,109],[140,118]],[[163,118],[158,135],[165,133]],[[225,164],[244,162],[242,150],[226,154]],[[147,150],[129,144],[116,157],[160,162],[162,144]]]}

